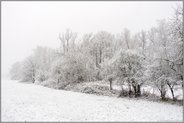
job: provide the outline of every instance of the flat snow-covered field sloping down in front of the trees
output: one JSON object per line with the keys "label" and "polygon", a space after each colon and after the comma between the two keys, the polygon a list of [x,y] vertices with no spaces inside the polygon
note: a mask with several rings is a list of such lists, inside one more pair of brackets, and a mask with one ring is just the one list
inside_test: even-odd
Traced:
{"label": "flat snow-covered field sloping down in front of the trees", "polygon": [[183,121],[183,107],[1,80],[2,121]]}

